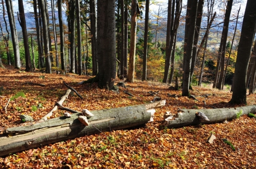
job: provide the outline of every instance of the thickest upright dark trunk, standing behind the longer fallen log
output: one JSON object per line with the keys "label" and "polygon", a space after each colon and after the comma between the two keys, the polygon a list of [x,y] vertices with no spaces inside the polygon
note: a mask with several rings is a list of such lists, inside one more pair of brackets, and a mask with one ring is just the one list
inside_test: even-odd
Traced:
{"label": "thickest upright dark trunk, standing behind the longer fallen log", "polygon": [[116,19],[115,0],[97,2],[97,56],[101,88],[111,90],[116,79]]}

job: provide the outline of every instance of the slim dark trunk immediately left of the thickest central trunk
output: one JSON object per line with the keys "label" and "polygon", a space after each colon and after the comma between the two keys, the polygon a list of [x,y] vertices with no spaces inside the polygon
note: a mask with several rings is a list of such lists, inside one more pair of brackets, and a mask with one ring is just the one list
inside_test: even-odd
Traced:
{"label": "slim dark trunk immediately left of the thickest central trunk", "polygon": [[98,73],[98,59],[97,59],[97,35],[96,35],[96,0],[90,0],[90,22],[91,22],[91,44],[92,44],[92,75]]}

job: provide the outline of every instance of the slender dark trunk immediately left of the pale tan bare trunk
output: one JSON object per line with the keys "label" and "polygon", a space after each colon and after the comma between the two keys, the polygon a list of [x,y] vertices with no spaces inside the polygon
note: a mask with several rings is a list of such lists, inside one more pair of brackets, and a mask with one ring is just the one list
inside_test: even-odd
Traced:
{"label": "slender dark trunk immediately left of the pale tan bare trunk", "polygon": [[128,56],[128,5],[125,4],[125,46],[124,46],[124,76],[127,77],[127,56]]}

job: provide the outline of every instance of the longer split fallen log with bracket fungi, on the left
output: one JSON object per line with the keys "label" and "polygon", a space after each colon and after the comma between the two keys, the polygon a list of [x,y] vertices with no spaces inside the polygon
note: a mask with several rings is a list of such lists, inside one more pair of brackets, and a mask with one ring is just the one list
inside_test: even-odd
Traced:
{"label": "longer split fallen log with bracket fungi, on the left", "polygon": [[[88,118],[89,126],[83,126],[78,120],[80,113],[74,113],[71,118],[63,116],[34,125],[8,128],[0,136],[0,156],[85,135],[142,125],[150,121],[154,108],[164,105],[165,100],[161,100],[146,105],[92,111],[94,116]],[[13,136],[8,137],[7,134]]]}

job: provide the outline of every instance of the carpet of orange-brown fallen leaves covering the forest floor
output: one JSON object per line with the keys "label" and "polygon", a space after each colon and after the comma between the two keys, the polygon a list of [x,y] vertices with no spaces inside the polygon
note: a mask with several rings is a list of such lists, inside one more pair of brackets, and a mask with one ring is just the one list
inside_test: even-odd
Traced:
{"label": "carpet of orange-brown fallen leaves covering the forest floor", "polygon": [[[44,76],[44,78],[42,78]],[[39,78],[41,77],[41,78]],[[181,95],[181,91],[168,89],[169,86],[150,81],[126,83],[128,92],[136,97],[97,88],[97,84],[76,85],[88,79],[88,76],[75,74],[27,73],[17,69],[0,68],[0,86],[3,86],[0,97],[0,109],[8,99],[23,91],[26,98],[19,97],[10,101],[7,114],[0,112],[0,132],[5,128],[21,125],[21,114],[31,115],[39,120],[47,114],[66,93],[66,81],[84,100],[75,94],[69,95],[64,106],[81,111],[118,108],[140,105],[153,100],[148,91],[160,91],[159,95],[166,100],[166,106],[157,109],[154,122],[136,128],[104,132],[73,140],[65,140],[36,149],[0,157],[0,168],[256,168],[256,119],[242,116],[226,123],[214,123],[182,128],[163,128],[163,115],[166,111],[175,113],[177,108],[202,109],[227,108],[243,105],[230,105],[232,94],[213,90],[209,86],[194,87],[193,95],[209,94],[208,98],[198,97],[195,101],[187,97],[168,97]],[[117,79],[116,82],[119,80]],[[25,82],[45,84],[45,87],[28,85]],[[202,102],[206,100],[206,105]],[[247,97],[248,105],[255,104],[256,95]],[[32,106],[41,108],[33,111]],[[52,118],[62,116],[64,111],[57,110]],[[213,144],[206,143],[209,135],[216,136]],[[1,136],[1,135],[0,135]],[[221,139],[233,143],[236,151]]]}

